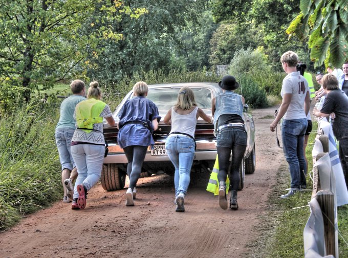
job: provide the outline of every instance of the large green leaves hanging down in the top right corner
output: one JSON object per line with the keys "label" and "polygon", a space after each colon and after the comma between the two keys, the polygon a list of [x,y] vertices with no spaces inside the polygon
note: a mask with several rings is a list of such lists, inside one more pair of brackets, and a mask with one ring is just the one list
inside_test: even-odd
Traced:
{"label": "large green leaves hanging down in the top right corner", "polygon": [[308,39],[316,66],[340,67],[348,55],[346,0],[301,0],[300,10],[287,33]]}

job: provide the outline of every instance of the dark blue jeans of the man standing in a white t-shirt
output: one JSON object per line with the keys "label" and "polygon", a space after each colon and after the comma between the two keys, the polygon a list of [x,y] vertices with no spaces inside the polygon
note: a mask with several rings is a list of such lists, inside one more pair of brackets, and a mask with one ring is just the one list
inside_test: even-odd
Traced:
{"label": "dark blue jeans of the man standing in a white t-shirt", "polygon": [[303,153],[303,143],[307,125],[307,118],[284,119],[281,124],[281,139],[284,155],[289,164],[292,190],[306,187],[307,164],[305,153]]}

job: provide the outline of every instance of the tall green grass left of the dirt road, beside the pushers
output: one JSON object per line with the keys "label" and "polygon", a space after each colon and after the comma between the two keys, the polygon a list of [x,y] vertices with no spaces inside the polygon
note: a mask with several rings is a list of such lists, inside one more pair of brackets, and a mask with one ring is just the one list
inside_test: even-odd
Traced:
{"label": "tall green grass left of the dirt road, beside the pushers", "polygon": [[59,197],[56,104],[32,101],[0,120],[0,230]]}

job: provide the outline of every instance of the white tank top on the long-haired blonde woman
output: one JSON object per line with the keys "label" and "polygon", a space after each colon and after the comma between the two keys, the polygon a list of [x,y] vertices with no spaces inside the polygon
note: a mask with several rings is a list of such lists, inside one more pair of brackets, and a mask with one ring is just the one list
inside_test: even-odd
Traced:
{"label": "white tank top on the long-haired blonde woman", "polygon": [[196,106],[191,113],[187,115],[180,115],[174,111],[174,107],[171,108],[171,132],[180,132],[189,134],[194,138],[195,126],[197,124],[197,111]]}

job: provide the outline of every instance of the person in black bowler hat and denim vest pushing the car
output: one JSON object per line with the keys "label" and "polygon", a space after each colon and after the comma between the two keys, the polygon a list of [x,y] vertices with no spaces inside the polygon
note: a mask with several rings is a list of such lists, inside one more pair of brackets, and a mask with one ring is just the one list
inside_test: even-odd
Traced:
{"label": "person in black bowler hat and denim vest pushing the car", "polygon": [[212,99],[212,115],[214,117],[217,156],[219,159],[219,205],[227,209],[226,179],[230,155],[232,162],[230,209],[238,209],[237,190],[240,183],[239,168],[247,147],[247,132],[243,120],[244,98],[233,92],[239,87],[235,78],[226,75],[219,82],[223,92]]}

